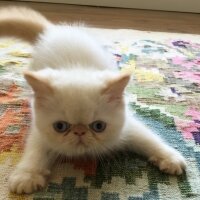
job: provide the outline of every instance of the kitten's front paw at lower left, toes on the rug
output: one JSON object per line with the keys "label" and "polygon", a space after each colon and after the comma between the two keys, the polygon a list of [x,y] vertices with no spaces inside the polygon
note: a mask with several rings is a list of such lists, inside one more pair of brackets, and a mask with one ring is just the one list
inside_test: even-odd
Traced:
{"label": "kitten's front paw at lower left, toes on the rug", "polygon": [[48,170],[44,172],[26,171],[16,169],[9,178],[9,189],[11,192],[22,194],[32,193],[43,188],[46,185],[46,176]]}

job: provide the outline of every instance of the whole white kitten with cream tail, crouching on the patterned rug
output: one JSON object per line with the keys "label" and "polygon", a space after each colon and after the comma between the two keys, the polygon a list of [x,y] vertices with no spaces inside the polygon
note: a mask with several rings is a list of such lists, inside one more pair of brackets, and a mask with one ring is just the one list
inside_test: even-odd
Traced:
{"label": "whole white kitten with cream tail, crouching on the patterned rug", "polygon": [[44,187],[58,154],[95,156],[129,148],[162,171],[183,173],[183,156],[129,114],[123,92],[130,75],[110,68],[113,60],[84,28],[53,25],[26,8],[0,13],[0,35],[34,43],[32,70],[25,73],[35,94],[33,122],[9,179],[12,192]]}

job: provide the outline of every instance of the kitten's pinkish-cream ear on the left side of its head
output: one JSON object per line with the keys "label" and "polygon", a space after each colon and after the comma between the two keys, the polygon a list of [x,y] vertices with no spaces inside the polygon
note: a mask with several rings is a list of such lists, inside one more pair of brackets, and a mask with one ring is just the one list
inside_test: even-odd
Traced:
{"label": "kitten's pinkish-cream ear on the left side of its head", "polygon": [[50,95],[53,92],[48,80],[39,76],[37,72],[26,71],[24,72],[24,77],[32,87],[36,97],[46,96],[47,94]]}

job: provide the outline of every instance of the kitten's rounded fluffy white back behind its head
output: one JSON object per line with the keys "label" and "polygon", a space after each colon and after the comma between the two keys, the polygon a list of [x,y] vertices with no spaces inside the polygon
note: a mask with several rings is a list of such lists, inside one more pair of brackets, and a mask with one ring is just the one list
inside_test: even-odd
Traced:
{"label": "kitten's rounded fluffy white back behind its head", "polygon": [[110,54],[84,31],[84,27],[57,25],[50,26],[40,35],[33,54],[32,68],[66,68],[76,65],[113,68]]}

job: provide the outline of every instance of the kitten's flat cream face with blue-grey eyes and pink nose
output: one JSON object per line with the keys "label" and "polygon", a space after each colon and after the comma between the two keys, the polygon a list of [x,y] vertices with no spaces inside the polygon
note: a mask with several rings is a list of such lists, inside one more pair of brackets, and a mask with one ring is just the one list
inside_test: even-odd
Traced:
{"label": "kitten's flat cream face with blue-grey eyes and pink nose", "polygon": [[116,83],[88,84],[80,79],[81,83],[71,80],[70,84],[65,81],[51,86],[45,81],[42,93],[27,80],[36,95],[36,126],[56,152],[68,156],[95,155],[117,143],[124,123],[122,92],[127,76],[121,78],[121,87],[117,85],[120,78],[114,80]]}

